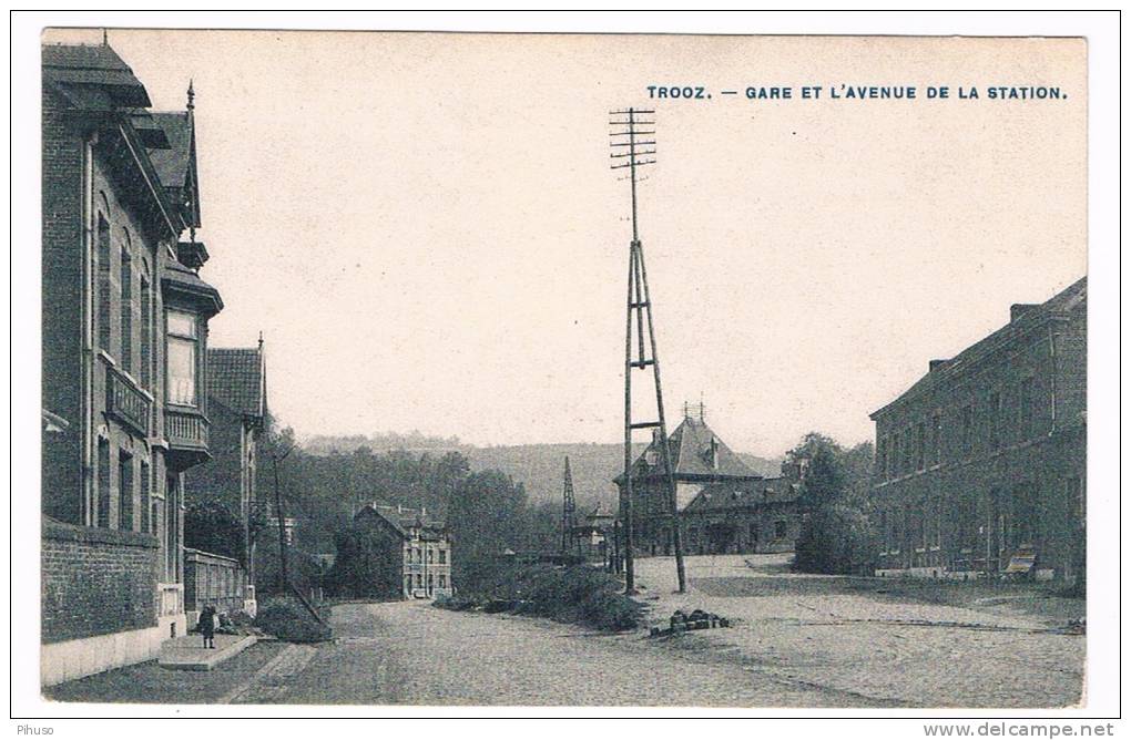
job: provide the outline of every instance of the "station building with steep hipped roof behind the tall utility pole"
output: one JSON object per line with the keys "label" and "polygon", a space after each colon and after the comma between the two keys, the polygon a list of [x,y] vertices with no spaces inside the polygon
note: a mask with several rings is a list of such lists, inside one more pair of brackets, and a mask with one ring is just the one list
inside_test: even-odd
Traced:
{"label": "station building with steep hipped roof behind the tall utility pole", "polygon": [[[702,412],[668,436],[680,533],[689,554],[769,552],[793,549],[800,528],[795,478],[765,478],[751,470],[707,426]],[[632,463],[633,548],[671,555],[667,476],[657,438]],[[624,476],[614,480],[624,499]]]}

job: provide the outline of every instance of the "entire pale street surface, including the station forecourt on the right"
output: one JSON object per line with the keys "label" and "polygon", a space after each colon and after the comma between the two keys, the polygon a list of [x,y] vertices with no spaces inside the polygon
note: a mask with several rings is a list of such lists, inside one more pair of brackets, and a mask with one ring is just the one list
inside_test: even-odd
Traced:
{"label": "entire pale street surface, including the station forecourt on the right", "polygon": [[[232,700],[503,706],[1080,700],[1085,637],[1061,627],[1077,608],[1082,612],[1082,602],[1009,591],[966,606],[932,603],[896,593],[900,584],[789,574],[785,559],[688,558],[691,592],[682,597],[672,593],[670,559],[639,560],[641,598],[653,604],[654,624],[674,608],[697,606],[736,621],[731,629],[677,639],[647,638],[642,630],[601,635],[541,619],[451,612],[423,601],[339,604],[334,644],[290,648]],[[979,593],[973,585],[941,589],[951,602]]]}

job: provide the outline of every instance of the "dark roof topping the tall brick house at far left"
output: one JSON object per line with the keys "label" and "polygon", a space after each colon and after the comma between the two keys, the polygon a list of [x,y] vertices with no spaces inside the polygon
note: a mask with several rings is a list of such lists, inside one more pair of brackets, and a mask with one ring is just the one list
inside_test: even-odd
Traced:
{"label": "dark roof topping the tall brick house at far left", "polygon": [[[101,88],[115,105],[149,107],[145,86],[118,53],[105,45],[48,44],[41,47],[43,78],[66,88]],[[90,90],[77,92],[76,103],[102,108]]]}

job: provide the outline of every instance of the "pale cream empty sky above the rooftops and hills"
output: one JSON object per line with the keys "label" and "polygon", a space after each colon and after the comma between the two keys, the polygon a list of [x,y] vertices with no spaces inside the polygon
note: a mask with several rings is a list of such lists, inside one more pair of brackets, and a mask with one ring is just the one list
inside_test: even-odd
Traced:
{"label": "pale cream empty sky above the rooftops and hills", "polygon": [[[867,415],[930,359],[1087,271],[1079,40],[109,41],[156,110],[183,108],[193,80],[201,277],[225,302],[210,346],[264,333],[270,406],[300,437],[622,438],[631,227],[607,113],[628,105],[656,110],[640,234],[667,415],[702,400],[736,450],[870,439]],[[920,98],[829,99],[839,82]],[[1030,84],[1068,97],[955,97]],[[649,101],[649,85],[713,97]],[[751,85],[795,99],[750,101]],[[802,85],[826,95],[797,99]]]}

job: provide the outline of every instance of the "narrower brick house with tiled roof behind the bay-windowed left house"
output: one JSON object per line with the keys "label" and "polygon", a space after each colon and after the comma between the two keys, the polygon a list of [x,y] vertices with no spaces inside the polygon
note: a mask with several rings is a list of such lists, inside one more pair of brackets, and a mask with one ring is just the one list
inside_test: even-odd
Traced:
{"label": "narrower brick house with tiled roof behind the bay-windowed left house", "polygon": [[198,555],[207,556],[189,560],[188,580],[193,587],[185,592],[185,608],[199,611],[205,601],[222,600],[253,612],[256,540],[268,523],[269,510],[256,491],[259,442],[267,419],[262,338],[256,347],[209,347],[207,365],[211,459],[185,473],[185,500],[223,508],[243,531],[240,543],[197,542],[191,531],[185,533],[185,546],[202,549]]}

